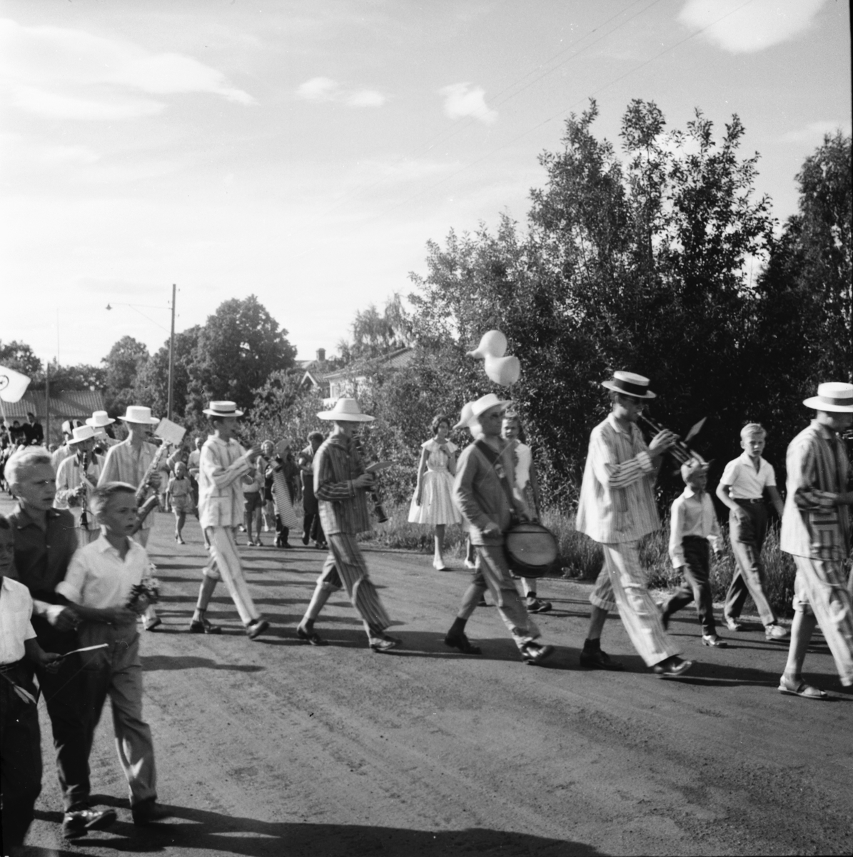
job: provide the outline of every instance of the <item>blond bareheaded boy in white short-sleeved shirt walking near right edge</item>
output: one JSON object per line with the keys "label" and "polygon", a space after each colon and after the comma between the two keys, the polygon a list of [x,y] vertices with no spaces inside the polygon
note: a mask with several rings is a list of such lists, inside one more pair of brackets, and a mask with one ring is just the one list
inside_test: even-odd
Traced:
{"label": "blond bareheaded boy in white short-sleeved shirt walking near right edge", "polygon": [[761,458],[766,442],[767,432],[759,423],[749,423],[741,429],[743,455],[725,465],[723,477],[717,486],[717,496],[730,509],[729,535],[731,549],[737,560],[737,571],[731,578],[725,596],[725,624],[730,631],[742,630],[743,626],[738,619],[743,603],[751,595],[761,624],[764,625],[765,636],[775,642],[786,640],[789,634],[778,625],[777,616],[764,591],[767,575],[761,561],[761,548],[767,536],[765,491],[779,518],[782,518],[784,506],[776,489],[776,474],[772,464]]}

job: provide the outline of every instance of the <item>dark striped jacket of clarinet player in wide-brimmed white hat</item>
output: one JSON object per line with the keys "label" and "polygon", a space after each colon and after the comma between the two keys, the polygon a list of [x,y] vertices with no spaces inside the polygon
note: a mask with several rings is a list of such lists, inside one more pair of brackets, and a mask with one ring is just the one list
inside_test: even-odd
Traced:
{"label": "dark striped jacket of clarinet player in wide-brimmed white hat", "polygon": [[361,455],[343,434],[332,434],[314,454],[314,495],[327,535],[370,529],[367,492],[352,484],[362,473]]}

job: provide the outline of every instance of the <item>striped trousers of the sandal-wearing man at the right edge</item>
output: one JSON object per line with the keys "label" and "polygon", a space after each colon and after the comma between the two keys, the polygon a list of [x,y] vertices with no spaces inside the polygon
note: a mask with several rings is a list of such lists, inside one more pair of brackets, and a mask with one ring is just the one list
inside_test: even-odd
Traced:
{"label": "striped trousers of the sandal-wearing man at the right edge", "polygon": [[[845,687],[853,685],[853,604],[844,563],[795,556],[794,609],[818,620]],[[853,580],[853,577],[850,578]]]}

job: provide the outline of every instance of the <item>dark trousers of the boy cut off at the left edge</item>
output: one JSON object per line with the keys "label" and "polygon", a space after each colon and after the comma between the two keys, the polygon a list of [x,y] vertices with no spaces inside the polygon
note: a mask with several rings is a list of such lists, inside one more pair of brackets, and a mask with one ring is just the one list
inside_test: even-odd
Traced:
{"label": "dark trousers of the boy cut off at the left edge", "polygon": [[41,792],[39,711],[21,699],[15,682],[36,695],[21,661],[3,668],[0,676],[0,795],[3,796],[3,854],[23,844]]}

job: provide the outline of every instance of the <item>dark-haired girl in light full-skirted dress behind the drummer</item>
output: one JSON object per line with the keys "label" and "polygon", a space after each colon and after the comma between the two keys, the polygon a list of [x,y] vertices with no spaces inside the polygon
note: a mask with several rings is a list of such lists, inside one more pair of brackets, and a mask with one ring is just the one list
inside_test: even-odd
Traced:
{"label": "dark-haired girl in light full-skirted dress behind the drummer", "polygon": [[432,438],[421,444],[418,482],[409,506],[409,522],[435,527],[435,555],[432,567],[449,571],[444,565],[444,530],[447,524],[459,524],[462,515],[453,504],[453,477],[456,476],[455,443],[447,440],[450,418],[444,414],[432,420]]}

